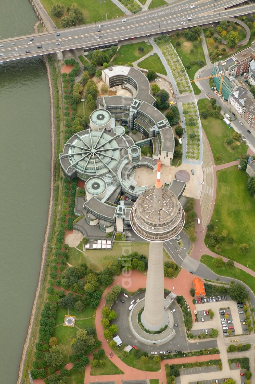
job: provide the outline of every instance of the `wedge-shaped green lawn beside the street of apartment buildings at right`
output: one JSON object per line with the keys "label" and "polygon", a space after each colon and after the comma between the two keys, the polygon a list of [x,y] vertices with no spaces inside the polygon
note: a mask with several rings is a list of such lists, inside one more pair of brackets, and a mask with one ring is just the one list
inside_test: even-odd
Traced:
{"label": "wedge-shaped green lawn beside the street of apartment buildings at right", "polygon": [[[201,113],[210,104],[208,99],[198,100],[199,112]],[[229,128],[224,121],[208,116],[207,119],[201,117],[201,124],[209,140],[216,165],[239,159],[240,156],[247,152],[247,145],[244,142],[237,145],[234,151],[226,144],[227,137],[232,137],[234,129]],[[237,141],[233,139],[233,142]],[[216,160],[217,154],[221,155],[220,160]]]}

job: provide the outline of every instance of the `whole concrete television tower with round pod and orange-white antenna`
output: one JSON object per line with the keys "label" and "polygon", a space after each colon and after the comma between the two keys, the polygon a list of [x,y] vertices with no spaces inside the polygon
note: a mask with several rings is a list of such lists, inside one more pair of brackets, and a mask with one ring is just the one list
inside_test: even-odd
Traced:
{"label": "whole concrete television tower with round pod and orange-white antenna", "polygon": [[142,325],[158,331],[168,323],[164,311],[163,242],[181,232],[185,214],[169,189],[160,181],[161,160],[157,160],[157,182],[138,197],[130,212],[131,227],[141,238],[150,242]]}

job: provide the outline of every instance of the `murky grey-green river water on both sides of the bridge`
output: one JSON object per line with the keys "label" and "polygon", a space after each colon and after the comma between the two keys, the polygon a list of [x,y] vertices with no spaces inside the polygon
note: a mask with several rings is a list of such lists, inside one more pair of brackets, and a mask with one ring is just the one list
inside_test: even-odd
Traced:
{"label": "murky grey-green river water on both sides of the bridge", "polygon": [[[0,39],[33,32],[28,0],[1,0]],[[0,382],[15,384],[49,206],[50,97],[41,58],[0,65]]]}

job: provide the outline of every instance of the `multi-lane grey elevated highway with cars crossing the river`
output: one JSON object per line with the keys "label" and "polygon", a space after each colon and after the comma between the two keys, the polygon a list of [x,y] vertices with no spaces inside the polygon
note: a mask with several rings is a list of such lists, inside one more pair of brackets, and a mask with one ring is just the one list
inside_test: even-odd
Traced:
{"label": "multi-lane grey elevated highway with cars crossing the river", "polygon": [[[122,19],[119,18],[105,21],[101,27],[99,27],[99,23],[87,24],[49,33],[0,40],[0,45],[3,45],[0,47],[0,61],[106,44],[138,36],[208,24],[222,20],[224,17],[255,12],[255,4],[224,10],[226,7],[241,2],[242,0],[208,0],[206,2],[192,3],[186,0],[181,5],[167,5],[152,12],[140,12],[135,15],[125,16],[126,22],[122,22]],[[195,8],[190,8],[192,4],[195,5]],[[188,21],[188,17],[192,17],[193,20]],[[98,32],[98,29],[101,29],[101,31]],[[60,35],[55,36],[56,32]],[[31,38],[34,40],[29,45]],[[11,45],[12,43],[15,44]],[[38,45],[42,46],[42,48],[37,48]],[[30,52],[26,53],[26,51]]]}

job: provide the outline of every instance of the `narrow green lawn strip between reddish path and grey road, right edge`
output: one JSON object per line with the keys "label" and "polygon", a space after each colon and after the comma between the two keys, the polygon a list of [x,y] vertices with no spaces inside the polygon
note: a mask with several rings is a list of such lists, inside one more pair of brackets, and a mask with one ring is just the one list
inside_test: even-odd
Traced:
{"label": "narrow green lawn strip between reddish path and grey road, right edge", "polygon": [[203,255],[200,259],[200,262],[208,266],[208,268],[217,273],[217,275],[227,276],[230,277],[230,279],[235,278],[243,281],[255,293],[255,279],[253,276],[239,268],[236,268],[235,266],[233,268],[229,268],[226,263],[224,263],[224,265],[219,268],[213,264],[213,260],[214,258],[212,256]]}

